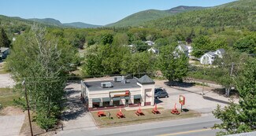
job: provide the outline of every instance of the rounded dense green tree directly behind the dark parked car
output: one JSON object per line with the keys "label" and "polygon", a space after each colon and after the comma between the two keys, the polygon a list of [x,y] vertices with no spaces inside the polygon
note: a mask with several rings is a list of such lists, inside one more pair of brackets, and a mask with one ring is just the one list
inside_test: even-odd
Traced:
{"label": "rounded dense green tree directly behind the dark parked car", "polygon": [[182,81],[188,72],[188,58],[175,51],[175,46],[163,46],[158,58],[158,68],[169,82]]}

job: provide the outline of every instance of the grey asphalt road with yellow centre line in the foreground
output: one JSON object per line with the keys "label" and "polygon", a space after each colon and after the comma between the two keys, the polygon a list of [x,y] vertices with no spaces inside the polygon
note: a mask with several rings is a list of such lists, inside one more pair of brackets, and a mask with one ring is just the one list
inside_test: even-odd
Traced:
{"label": "grey asphalt road with yellow centre line in the foreground", "polygon": [[200,136],[216,135],[218,130],[212,130],[214,123],[221,123],[213,116],[202,116],[191,119],[178,119],[155,123],[143,123],[123,127],[98,128],[96,130],[76,130],[62,132],[60,135],[102,135],[102,136]]}

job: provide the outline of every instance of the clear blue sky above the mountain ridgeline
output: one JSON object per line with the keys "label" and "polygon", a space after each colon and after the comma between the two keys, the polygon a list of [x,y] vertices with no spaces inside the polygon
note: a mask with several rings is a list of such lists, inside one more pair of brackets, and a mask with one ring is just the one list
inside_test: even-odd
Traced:
{"label": "clear blue sky above the mountain ridgeline", "polygon": [[54,18],[61,23],[110,24],[146,9],[217,6],[235,0],[0,0],[0,14],[22,18]]}

